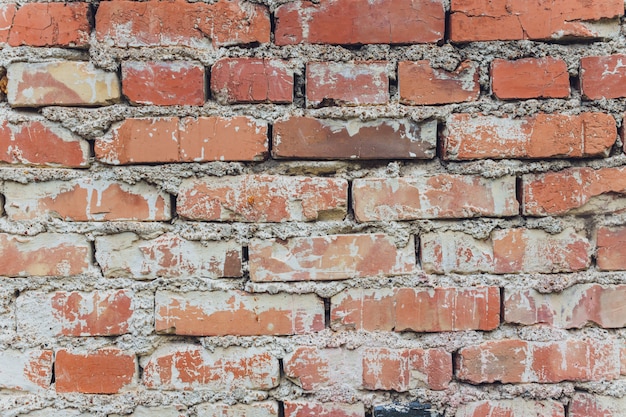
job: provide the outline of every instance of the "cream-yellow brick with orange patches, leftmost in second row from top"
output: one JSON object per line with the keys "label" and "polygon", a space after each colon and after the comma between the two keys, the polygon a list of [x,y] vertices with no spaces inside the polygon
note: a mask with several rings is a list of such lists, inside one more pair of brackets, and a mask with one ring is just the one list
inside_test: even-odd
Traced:
{"label": "cream-yellow brick with orange patches, leftmost in second row from top", "polygon": [[7,77],[12,107],[105,106],[120,99],[117,74],[90,62],[17,62]]}

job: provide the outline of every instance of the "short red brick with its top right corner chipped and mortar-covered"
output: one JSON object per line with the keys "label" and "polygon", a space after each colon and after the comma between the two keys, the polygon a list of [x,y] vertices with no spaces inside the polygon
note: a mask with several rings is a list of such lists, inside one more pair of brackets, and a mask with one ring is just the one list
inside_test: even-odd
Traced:
{"label": "short red brick with its top right corner chipped and mortar-covered", "polygon": [[400,103],[410,106],[474,101],[480,95],[478,69],[470,61],[456,70],[433,68],[430,61],[398,62]]}

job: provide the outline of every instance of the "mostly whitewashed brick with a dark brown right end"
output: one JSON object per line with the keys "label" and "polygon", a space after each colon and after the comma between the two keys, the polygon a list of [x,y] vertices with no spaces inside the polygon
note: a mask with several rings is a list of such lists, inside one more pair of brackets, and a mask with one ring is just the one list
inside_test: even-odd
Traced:
{"label": "mostly whitewashed brick with a dark brown right end", "polygon": [[105,277],[240,277],[241,245],[190,241],[173,233],[141,239],[134,233],[96,238],[96,260]]}

